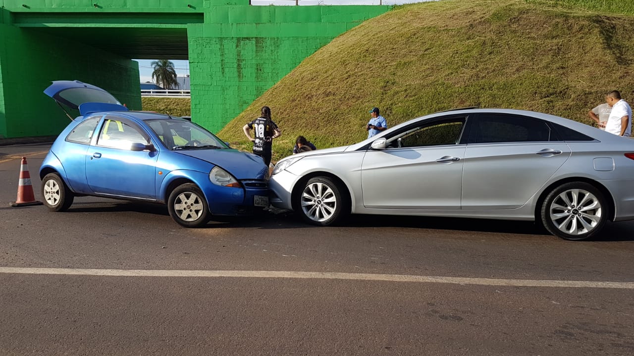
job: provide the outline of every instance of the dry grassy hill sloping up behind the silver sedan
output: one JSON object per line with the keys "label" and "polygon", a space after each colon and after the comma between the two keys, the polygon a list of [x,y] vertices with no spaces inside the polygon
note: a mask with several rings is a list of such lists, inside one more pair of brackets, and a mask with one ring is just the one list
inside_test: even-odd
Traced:
{"label": "dry grassy hill sloping up behind the silver sedan", "polygon": [[611,13],[615,3],[634,14],[630,0],[398,6],[306,58],[219,136],[250,149],[242,125],[264,105],[283,130],[274,161],[290,155],[300,134],[318,148],[365,139],[373,106],[391,126],[475,105],[590,124],[586,113],[607,92],[618,89],[634,101],[634,17]]}

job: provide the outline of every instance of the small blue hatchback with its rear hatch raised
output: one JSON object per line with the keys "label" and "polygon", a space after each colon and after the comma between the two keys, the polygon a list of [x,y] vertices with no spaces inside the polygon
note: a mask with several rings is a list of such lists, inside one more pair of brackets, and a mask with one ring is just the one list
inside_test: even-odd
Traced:
{"label": "small blue hatchback with its rear hatch raised", "polygon": [[204,128],[128,111],[107,91],[77,80],[53,82],[44,93],[80,114],[39,170],[50,210],[67,210],[75,196],[148,201],[167,204],[178,224],[200,227],[213,215],[268,207],[269,170],[262,158],[230,148]]}

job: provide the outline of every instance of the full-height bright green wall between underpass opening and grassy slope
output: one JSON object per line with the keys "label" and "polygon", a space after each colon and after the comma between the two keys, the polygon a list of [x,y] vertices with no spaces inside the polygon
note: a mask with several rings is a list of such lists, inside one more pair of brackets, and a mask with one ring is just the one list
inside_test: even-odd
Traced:
{"label": "full-height bright green wall between underpass opening and grassy slope", "polygon": [[205,22],[212,23],[188,26],[191,117],[212,132],[219,131],[304,58],[346,30],[388,9],[387,6],[218,8],[205,17]]}

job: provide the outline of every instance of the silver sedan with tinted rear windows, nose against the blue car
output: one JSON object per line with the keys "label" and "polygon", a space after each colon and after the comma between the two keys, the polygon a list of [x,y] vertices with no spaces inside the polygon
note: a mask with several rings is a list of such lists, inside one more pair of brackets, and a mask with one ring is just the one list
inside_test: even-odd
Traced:
{"label": "silver sedan with tinted rear windows, nose against the blue car", "polygon": [[634,139],[533,111],[444,111],[283,158],[270,188],[273,206],[318,226],[348,213],[536,220],[581,240],[634,219]]}

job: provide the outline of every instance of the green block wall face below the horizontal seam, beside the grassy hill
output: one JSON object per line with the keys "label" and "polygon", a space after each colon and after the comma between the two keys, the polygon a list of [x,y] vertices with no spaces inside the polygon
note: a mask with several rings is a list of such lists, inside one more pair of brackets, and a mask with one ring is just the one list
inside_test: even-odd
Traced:
{"label": "green block wall face below the horizontal seam, beside the grassy hill", "polygon": [[[197,36],[228,25],[190,29],[191,116],[217,132],[332,37],[290,37],[271,26],[246,37]],[[240,26],[238,25],[238,28]],[[265,35],[268,32],[275,35]],[[257,115],[257,113],[254,113]]]}

